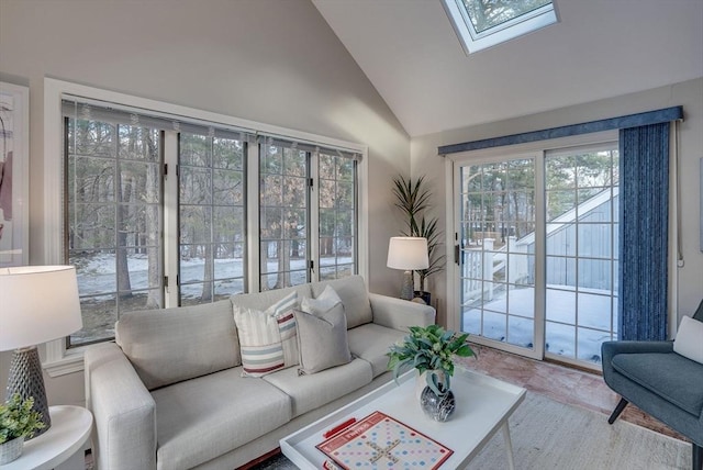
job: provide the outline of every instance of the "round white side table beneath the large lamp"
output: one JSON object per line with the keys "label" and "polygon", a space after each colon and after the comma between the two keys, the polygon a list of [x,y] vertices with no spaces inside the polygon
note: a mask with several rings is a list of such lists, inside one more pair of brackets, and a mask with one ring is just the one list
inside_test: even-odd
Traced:
{"label": "round white side table beneath the large lamp", "polygon": [[[52,427],[34,439],[25,440],[19,459],[0,470],[85,469],[83,444],[90,437],[92,414],[80,406],[49,406]],[[59,467],[66,462],[65,467]]]}

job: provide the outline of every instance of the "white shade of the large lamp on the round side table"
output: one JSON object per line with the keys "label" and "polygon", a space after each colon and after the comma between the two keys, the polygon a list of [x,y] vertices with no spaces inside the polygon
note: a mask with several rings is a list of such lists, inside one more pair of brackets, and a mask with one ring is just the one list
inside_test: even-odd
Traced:
{"label": "white shade of the large lamp on the round side table", "polygon": [[0,269],[0,350],[38,345],[81,327],[75,267]]}

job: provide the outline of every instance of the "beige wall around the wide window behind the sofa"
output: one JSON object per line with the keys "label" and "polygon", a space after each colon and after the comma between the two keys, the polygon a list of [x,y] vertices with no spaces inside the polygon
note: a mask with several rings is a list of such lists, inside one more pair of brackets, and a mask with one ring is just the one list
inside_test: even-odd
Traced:
{"label": "beige wall around the wide window behind the sofa", "polygon": [[[34,265],[44,247],[45,76],[368,145],[369,284],[395,293],[390,181],[410,172],[410,141],[310,1],[0,1],[0,80],[30,87]],[[9,357],[0,354],[2,390]],[[52,404],[83,400],[82,373],[46,387]]]}

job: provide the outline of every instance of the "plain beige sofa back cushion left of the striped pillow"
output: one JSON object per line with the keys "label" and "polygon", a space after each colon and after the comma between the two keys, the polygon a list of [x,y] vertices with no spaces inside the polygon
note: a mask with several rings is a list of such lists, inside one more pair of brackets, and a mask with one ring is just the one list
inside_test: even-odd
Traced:
{"label": "plain beige sofa back cushion left of the striped pillow", "polygon": [[125,313],[115,340],[148,390],[242,363],[228,300]]}

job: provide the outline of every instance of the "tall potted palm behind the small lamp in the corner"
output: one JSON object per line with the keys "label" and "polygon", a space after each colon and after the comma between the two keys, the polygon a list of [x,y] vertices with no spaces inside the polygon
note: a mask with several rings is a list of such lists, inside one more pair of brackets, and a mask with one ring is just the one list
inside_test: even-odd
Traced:
{"label": "tall potted palm behind the small lamp in the corner", "polygon": [[429,266],[426,269],[419,269],[415,272],[420,279],[420,290],[415,295],[422,298],[429,304],[431,294],[425,290],[427,278],[444,269],[446,256],[437,249],[442,245],[442,231],[437,228],[438,219],[427,216],[429,210],[429,199],[432,192],[427,188],[425,177],[415,180],[405,179],[402,175],[393,178],[393,195],[395,195],[395,206],[399,208],[405,220],[405,236],[419,236],[427,238],[427,256]]}

